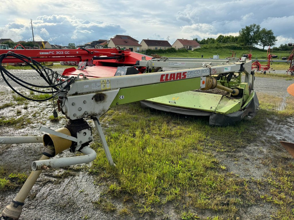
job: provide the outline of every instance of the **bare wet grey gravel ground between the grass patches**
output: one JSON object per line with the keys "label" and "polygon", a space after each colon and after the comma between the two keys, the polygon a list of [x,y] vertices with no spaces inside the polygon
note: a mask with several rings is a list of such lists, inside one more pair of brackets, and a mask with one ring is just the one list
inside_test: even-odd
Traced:
{"label": "bare wet grey gravel ground between the grass patches", "polygon": [[[57,69],[58,72],[62,72],[62,69]],[[13,74],[19,75],[24,79],[29,80],[32,83],[40,82],[38,79],[31,78],[31,70],[11,70]],[[277,72],[277,71],[276,71]],[[256,77],[255,79],[255,90],[275,96],[283,97],[284,99],[289,96],[286,92],[287,87],[292,83],[291,80],[285,79],[274,79],[265,77]],[[14,86],[16,86],[14,84]],[[12,101],[12,93],[9,87],[6,85],[4,80],[0,79],[0,92],[2,96],[2,104]],[[22,109],[23,106],[18,106]],[[30,115],[33,115],[35,111],[38,114],[45,116],[50,115],[52,109],[48,108],[48,103],[36,103],[30,102],[28,109],[26,110]],[[15,107],[5,108],[1,110],[1,116],[11,117],[15,114]],[[26,128],[15,130],[13,127],[1,126],[0,136],[26,136],[26,135],[42,135],[37,130],[39,123],[34,121],[33,124]],[[51,129],[61,127],[66,123],[66,119],[62,119],[59,123],[44,122],[44,126]],[[243,149],[236,150],[232,155],[219,155],[218,159],[220,163],[223,163],[228,167],[228,172],[233,172],[243,178],[262,178],[263,173],[266,172],[268,167],[260,165],[260,158],[269,155],[268,148],[271,143],[263,143],[262,140],[268,140],[268,136],[273,137],[273,142],[277,140],[287,140],[294,142],[293,137],[293,124],[294,119],[288,119],[287,123],[275,121],[268,121],[268,126],[260,132],[260,143],[254,143],[252,145],[245,146]],[[10,172],[24,172],[30,170],[31,162],[38,160],[40,157],[40,149],[42,144],[12,144],[12,145],[0,145],[0,166],[8,166]],[[262,150],[260,150],[262,148]],[[285,151],[284,151],[285,153]],[[70,153],[62,153],[58,157],[69,156]],[[238,164],[244,164],[242,167],[236,165],[234,158],[239,158]],[[285,157],[287,156],[285,153]],[[17,165],[14,165],[16,161]],[[260,165],[256,168],[256,164]],[[78,168],[78,167],[77,167]],[[95,180],[93,176],[88,175],[85,172],[79,171],[78,169],[72,171],[72,175],[65,178],[57,178],[56,175],[62,174],[67,169],[54,169],[53,171],[42,173],[36,185],[34,185],[29,198],[26,199],[26,203],[23,208],[23,213],[20,220],[25,219],[121,219],[121,215],[117,215],[116,212],[106,213],[101,209],[94,207],[92,201],[99,199],[101,192],[105,189],[104,184],[94,184]],[[10,201],[16,196],[19,191],[6,191],[0,194],[0,210],[2,210]],[[113,201],[114,202],[114,201]],[[116,200],[118,209],[122,204],[122,201]],[[241,211],[240,215],[243,219],[253,219],[254,216],[263,213],[265,219],[270,218],[269,210],[273,209],[270,204],[264,206],[251,206],[248,210]],[[168,219],[178,219],[178,215],[175,214],[174,209],[168,208],[165,210],[168,213]],[[208,211],[209,212],[209,211]],[[210,213],[208,213],[210,214]],[[151,217],[144,215],[143,217],[135,214],[133,216],[126,216],[125,219],[161,219],[158,217]]]}

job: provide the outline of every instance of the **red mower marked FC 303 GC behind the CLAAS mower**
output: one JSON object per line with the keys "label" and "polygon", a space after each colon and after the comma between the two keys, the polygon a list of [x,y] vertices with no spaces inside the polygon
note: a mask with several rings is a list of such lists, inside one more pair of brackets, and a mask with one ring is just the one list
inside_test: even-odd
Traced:
{"label": "red mower marked FC 303 GC behind the CLAAS mower", "polygon": [[[39,50],[1,50],[1,53],[17,52],[19,55],[31,57],[38,62],[84,62],[91,61],[90,65],[95,65],[95,71],[89,71],[86,77],[106,77],[114,76],[117,67],[135,66],[138,60],[151,60],[153,57],[136,53],[130,50],[121,50],[120,48],[103,49],[39,49]],[[16,63],[21,60],[7,55],[3,63]],[[76,70],[71,67],[64,70],[63,75],[70,75]],[[146,72],[146,67],[138,67],[140,73]],[[103,72],[103,76],[101,73]]]}

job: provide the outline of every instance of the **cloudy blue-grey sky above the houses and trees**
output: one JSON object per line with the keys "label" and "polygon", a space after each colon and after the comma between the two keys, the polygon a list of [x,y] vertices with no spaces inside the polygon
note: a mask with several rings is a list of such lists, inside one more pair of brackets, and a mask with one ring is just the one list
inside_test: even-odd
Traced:
{"label": "cloudy blue-grey sky above the houses and trees", "polygon": [[293,0],[76,1],[1,0],[0,38],[76,45],[116,34],[139,40],[238,35],[253,23],[272,29],[276,45],[294,41]]}

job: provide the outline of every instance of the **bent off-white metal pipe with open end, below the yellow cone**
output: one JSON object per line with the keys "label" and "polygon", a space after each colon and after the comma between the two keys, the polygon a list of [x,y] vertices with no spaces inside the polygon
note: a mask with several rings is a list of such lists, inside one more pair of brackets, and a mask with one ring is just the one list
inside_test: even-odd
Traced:
{"label": "bent off-white metal pipe with open end, below the yellow cone", "polygon": [[96,159],[96,151],[89,148],[88,146],[81,149],[81,152],[86,155],[34,161],[32,163],[32,170],[42,170],[41,167],[43,165],[49,168],[66,167],[82,163],[89,163]]}

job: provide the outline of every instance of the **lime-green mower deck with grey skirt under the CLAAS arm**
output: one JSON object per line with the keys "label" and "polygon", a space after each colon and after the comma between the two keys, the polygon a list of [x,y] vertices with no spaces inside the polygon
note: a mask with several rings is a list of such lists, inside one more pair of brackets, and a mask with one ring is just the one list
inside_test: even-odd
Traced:
{"label": "lime-green mower deck with grey skirt under the CLAAS arm", "polygon": [[249,97],[188,91],[141,101],[143,107],[194,116],[209,116],[209,125],[226,126],[241,121],[258,106],[255,91]]}

